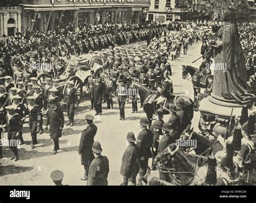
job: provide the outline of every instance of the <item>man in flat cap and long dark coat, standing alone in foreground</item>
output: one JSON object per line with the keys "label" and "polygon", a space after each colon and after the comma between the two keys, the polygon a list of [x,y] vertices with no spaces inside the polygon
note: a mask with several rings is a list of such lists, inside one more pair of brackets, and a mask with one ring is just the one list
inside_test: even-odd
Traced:
{"label": "man in flat cap and long dark coat, standing alone in foreground", "polygon": [[92,115],[85,116],[87,127],[82,131],[78,153],[81,155],[81,164],[84,165],[84,177],[81,180],[87,180],[89,166],[94,158],[92,144],[97,133],[97,126],[93,123]]}

